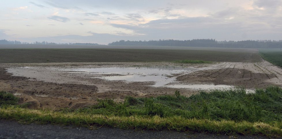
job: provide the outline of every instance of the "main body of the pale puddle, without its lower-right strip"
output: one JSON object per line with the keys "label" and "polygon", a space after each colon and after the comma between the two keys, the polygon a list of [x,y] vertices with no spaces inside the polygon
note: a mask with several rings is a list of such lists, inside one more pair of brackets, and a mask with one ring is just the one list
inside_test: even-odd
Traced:
{"label": "main body of the pale puddle, without its lower-right strip", "polygon": [[[196,68],[182,67],[129,67],[129,68],[74,68],[59,69],[65,73],[85,73],[85,74],[104,74],[107,76],[93,77],[110,81],[123,80],[128,82],[155,82],[154,87],[161,87],[168,83],[174,83],[174,74],[187,74],[196,71]],[[112,76],[113,75],[113,76]],[[116,76],[118,75],[118,76]]]}

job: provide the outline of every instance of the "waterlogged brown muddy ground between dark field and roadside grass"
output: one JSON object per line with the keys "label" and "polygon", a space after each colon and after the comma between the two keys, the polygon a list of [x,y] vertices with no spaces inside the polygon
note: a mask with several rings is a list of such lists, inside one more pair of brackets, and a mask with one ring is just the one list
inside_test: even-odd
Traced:
{"label": "waterlogged brown muddy ground between dark field and roadside grass", "polygon": [[[95,73],[73,69],[97,68],[143,69],[173,67],[184,69],[168,75],[140,75],[164,77],[171,81],[154,86],[154,81],[108,80],[105,77],[126,77],[121,73]],[[68,70],[65,70],[68,69]],[[149,68],[151,69],[151,68]],[[172,72],[173,70],[168,70]],[[139,73],[138,73],[139,74]],[[134,75],[134,73],[132,73]],[[33,108],[78,108],[97,103],[97,99],[123,101],[126,96],[152,97],[173,95],[180,90],[190,96],[199,91],[242,86],[248,90],[268,85],[282,86],[282,69],[262,62],[216,62],[213,64],[181,64],[173,62],[95,62],[95,63],[41,63],[1,64],[0,90],[21,97],[22,103],[31,102]],[[209,87],[207,87],[209,86]]]}

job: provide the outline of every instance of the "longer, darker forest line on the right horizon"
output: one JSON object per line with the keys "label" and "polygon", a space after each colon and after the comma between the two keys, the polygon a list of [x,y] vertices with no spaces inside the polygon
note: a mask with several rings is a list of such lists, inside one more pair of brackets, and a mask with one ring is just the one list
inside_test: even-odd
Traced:
{"label": "longer, darker forest line on the right horizon", "polygon": [[216,41],[215,39],[194,40],[149,40],[125,41],[109,43],[115,46],[191,46],[191,47],[223,47],[223,48],[282,48],[282,40],[245,40],[245,41]]}

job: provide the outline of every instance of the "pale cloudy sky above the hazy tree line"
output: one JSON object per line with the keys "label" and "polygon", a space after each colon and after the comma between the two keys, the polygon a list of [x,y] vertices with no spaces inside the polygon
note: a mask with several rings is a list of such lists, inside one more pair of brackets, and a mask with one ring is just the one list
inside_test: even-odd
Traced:
{"label": "pale cloudy sky above the hazy tree line", "polygon": [[282,40],[282,0],[9,0],[0,40]]}

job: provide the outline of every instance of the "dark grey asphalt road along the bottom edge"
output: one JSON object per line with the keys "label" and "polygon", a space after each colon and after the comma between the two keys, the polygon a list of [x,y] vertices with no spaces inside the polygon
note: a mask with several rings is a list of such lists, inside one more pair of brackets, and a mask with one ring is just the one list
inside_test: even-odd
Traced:
{"label": "dark grey asphalt road along the bottom edge", "polygon": [[15,121],[0,120],[0,138],[195,138],[195,139],[223,139],[223,138],[243,138],[261,139],[262,136],[242,136],[242,135],[219,135],[208,133],[188,133],[175,131],[140,131],[122,130],[119,128],[101,127],[96,130],[88,128],[58,126],[51,124],[19,124]]}

